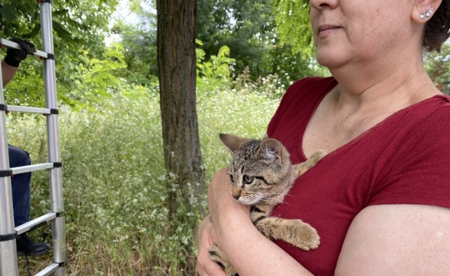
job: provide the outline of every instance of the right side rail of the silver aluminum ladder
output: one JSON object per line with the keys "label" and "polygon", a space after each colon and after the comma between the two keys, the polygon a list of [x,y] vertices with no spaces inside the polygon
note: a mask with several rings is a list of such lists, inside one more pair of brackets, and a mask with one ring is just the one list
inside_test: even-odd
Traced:
{"label": "right side rail of the silver aluminum ladder", "polygon": [[[52,6],[51,1],[41,1],[41,34],[43,51],[50,57],[44,59],[44,88],[46,90],[46,108],[57,110],[57,91],[55,75],[55,55],[53,49],[52,32]],[[61,164],[61,154],[59,150],[59,127],[58,115],[53,113],[47,116],[48,134],[48,161]],[[57,213],[57,218],[52,221],[53,239],[53,262],[59,264],[55,275],[63,276],[65,272],[64,264],[67,262],[66,256],[66,218],[63,216],[63,190],[62,190],[62,168],[58,166],[50,170],[50,201],[51,211]]]}

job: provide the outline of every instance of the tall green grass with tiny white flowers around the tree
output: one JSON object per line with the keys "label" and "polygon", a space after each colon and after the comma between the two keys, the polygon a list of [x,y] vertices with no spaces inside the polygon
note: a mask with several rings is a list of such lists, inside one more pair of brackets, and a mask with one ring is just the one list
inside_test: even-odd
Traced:
{"label": "tall green grass with tiny white flowers around the tree", "polygon": [[[182,248],[196,247],[196,233],[180,223],[167,234],[173,221],[166,208],[159,97],[139,86],[117,91],[89,111],[61,108],[66,274],[195,275],[195,255]],[[228,164],[219,132],[262,137],[277,104],[244,89],[197,93],[207,179]],[[8,139],[30,152],[33,163],[47,161],[44,117],[8,117]],[[33,172],[32,218],[50,211],[48,190],[48,172]],[[180,212],[194,215],[185,207]],[[39,228],[30,235],[50,242],[51,235],[42,237],[49,231]],[[30,273],[51,262],[51,254],[29,258]],[[20,275],[28,275],[23,257],[19,267]]]}

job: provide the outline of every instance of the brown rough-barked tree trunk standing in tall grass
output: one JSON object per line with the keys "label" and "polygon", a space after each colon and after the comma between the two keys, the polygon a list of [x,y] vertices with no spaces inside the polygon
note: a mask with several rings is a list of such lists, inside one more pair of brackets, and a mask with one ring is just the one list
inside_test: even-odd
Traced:
{"label": "brown rough-barked tree trunk standing in tall grass", "polygon": [[[159,90],[171,216],[177,204],[189,206],[190,191],[197,199],[205,192],[195,106],[196,9],[196,0],[157,0]],[[181,194],[173,190],[173,184]]]}

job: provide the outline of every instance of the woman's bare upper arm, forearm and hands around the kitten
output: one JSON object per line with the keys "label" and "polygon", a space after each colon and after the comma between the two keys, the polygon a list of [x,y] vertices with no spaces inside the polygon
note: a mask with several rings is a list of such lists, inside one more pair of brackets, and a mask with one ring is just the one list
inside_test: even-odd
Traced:
{"label": "woman's bare upper arm, forearm and hands around the kitten", "polygon": [[[208,230],[201,231],[200,239],[222,248],[241,276],[311,275],[253,226],[248,208],[231,197],[228,179],[226,170],[220,170],[211,182],[208,206],[214,223],[204,221]],[[199,245],[199,258],[204,255],[200,275],[223,276],[219,266],[209,261],[207,250],[208,244]],[[450,271],[449,256],[449,208],[369,206],[349,228],[335,275],[444,276]]]}

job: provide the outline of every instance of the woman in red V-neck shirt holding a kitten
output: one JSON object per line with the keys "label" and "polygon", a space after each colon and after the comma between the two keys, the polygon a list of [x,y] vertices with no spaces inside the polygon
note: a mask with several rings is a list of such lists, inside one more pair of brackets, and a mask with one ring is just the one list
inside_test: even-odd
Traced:
{"label": "woman in red V-neck shirt holding a kitten", "polygon": [[240,276],[448,275],[450,98],[427,76],[422,48],[449,37],[450,1],[310,3],[317,61],[333,77],[294,83],[267,135],[293,163],[329,152],[273,211],[311,224],[321,244],[266,239],[219,170],[208,192],[214,223],[199,228],[199,275],[225,275],[208,259],[213,242]]}

